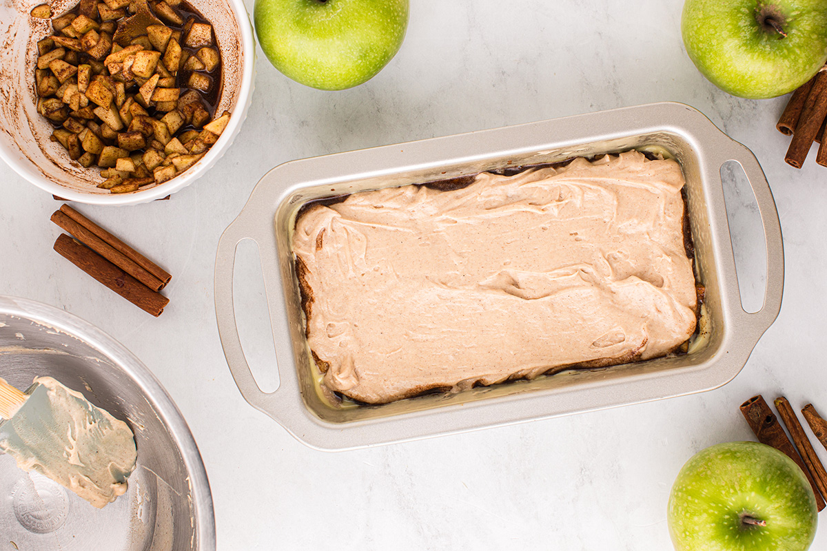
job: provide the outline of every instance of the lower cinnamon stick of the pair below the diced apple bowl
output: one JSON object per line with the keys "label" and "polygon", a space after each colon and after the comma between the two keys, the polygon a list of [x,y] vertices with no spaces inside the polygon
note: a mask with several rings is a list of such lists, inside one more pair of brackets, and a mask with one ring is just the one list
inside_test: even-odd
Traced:
{"label": "lower cinnamon stick of the pair below the diced apple bowl", "polygon": [[73,240],[69,235],[58,236],[55,241],[55,250],[98,282],[155,317],[160,316],[164,307],[170,302],[170,299],[160,292],[152,291],[100,254]]}

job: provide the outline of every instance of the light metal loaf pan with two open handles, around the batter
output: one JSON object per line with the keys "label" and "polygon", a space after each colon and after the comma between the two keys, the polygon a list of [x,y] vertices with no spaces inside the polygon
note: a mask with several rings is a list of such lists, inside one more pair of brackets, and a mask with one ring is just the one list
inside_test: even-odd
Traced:
{"label": "light metal loaf pan with two open handles, around the batter", "polygon": [[[706,287],[702,326],[707,334],[689,354],[383,406],[342,408],[323,399],[304,339],[290,246],[295,216],[304,202],[509,165],[632,149],[666,150],[686,176],[696,273]],[[729,160],[740,164],[753,188],[767,247],[764,302],[752,314],[741,306],[721,185],[720,168]],[[246,363],[233,310],[235,251],[244,239],[255,240],[261,255],[280,377],[279,388],[270,393],[261,391]],[[663,102],[281,164],[261,178],[219,241],[215,302],[224,354],[246,401],[305,444],[353,449],[719,387],[739,373],[777,317],[783,278],[781,226],[758,160],[694,108]]]}

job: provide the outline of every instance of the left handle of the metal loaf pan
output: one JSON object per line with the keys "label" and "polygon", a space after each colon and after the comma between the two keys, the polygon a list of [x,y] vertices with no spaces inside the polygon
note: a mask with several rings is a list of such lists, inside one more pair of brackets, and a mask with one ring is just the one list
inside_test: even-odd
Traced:
{"label": "left handle of the metal loaf pan", "polygon": [[[249,207],[249,205],[248,205]],[[232,373],[232,378],[235,380],[241,396],[250,403],[251,406],[256,407],[265,413],[272,415],[271,406],[276,394],[285,386],[284,377],[280,373],[279,387],[273,392],[263,392],[256,382],[256,378],[250,369],[244,355],[244,350],[241,348],[241,338],[238,335],[238,326],[236,325],[236,311],[233,304],[232,297],[232,280],[233,268],[236,262],[236,249],[242,240],[251,239],[256,241],[259,248],[259,258],[262,266],[265,264],[267,254],[265,251],[275,251],[275,232],[274,231],[253,231],[255,225],[248,222],[248,218],[255,218],[253,208],[245,207],[241,214],[232,221],[230,226],[224,230],[221,238],[218,240],[218,252],[216,253],[215,261],[215,315],[218,321],[218,336],[221,339],[221,345],[224,349],[224,356],[227,359],[227,365]],[[269,225],[261,225],[268,228]],[[275,254],[273,255],[275,256]],[[265,273],[267,270],[264,270]],[[279,273],[278,266],[276,266],[275,273]],[[267,308],[270,311],[270,323],[275,324],[273,319],[273,311],[275,305],[270,304],[271,297],[279,295],[274,292],[274,282],[267,281],[265,277],[265,294],[267,297]],[[284,310],[282,308],[281,310]],[[274,330],[275,330],[275,325]],[[276,362],[278,363],[278,353],[276,350]],[[270,406],[270,407],[269,407]]]}

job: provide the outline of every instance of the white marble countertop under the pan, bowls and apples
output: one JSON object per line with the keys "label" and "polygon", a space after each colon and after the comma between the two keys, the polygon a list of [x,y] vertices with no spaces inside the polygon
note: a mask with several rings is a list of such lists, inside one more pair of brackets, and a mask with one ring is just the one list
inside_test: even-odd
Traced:
{"label": "white marble countertop under the pan, bowls and apples", "polygon": [[[252,9],[252,2],[248,1]],[[198,442],[218,549],[671,549],[667,496],[707,445],[753,439],[739,404],[758,392],[827,410],[827,169],[784,163],[786,98],[719,91],[686,57],[681,2],[412,2],[399,55],[360,87],[329,93],[273,69],[259,50],[252,107],[232,149],[169,201],[83,211],[174,275],[155,319],[52,250],[60,206],[0,166],[0,293],[98,325],[160,378]],[[710,392],[375,449],[299,443],[237,391],[218,340],[218,237],[264,173],[290,159],[612,107],[685,102],[758,156],[784,233],[781,315],[733,382]],[[729,211],[743,287],[762,288],[755,209]],[[241,325],[272,358],[261,276],[241,251]],[[268,356],[270,354],[270,356]],[[809,429],[808,429],[809,430]],[[824,449],[821,458],[827,461]],[[812,549],[827,549],[827,530]]]}

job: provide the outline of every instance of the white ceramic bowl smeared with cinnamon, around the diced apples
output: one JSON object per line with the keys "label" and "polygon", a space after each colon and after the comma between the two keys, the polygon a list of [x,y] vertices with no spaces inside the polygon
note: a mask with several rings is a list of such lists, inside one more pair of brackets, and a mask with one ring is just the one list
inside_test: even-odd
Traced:
{"label": "white ceramic bowl smeared with cinnamon, around the diced apples", "polygon": [[[43,0],[0,0],[0,158],[37,187],[68,201],[131,205],[166,197],[200,178],[232,144],[250,107],[256,64],[256,40],[242,0],[190,0],[213,23],[221,49],[223,86],[216,112],[232,113],[218,142],[189,170],[165,183],[131,193],[110,193],[97,184],[99,169],[69,160],[63,146],[51,142],[50,122],[36,111],[34,87],[37,40],[51,35],[49,19],[29,15]],[[50,2],[55,16],[77,0]]]}

